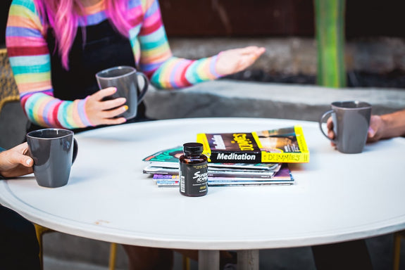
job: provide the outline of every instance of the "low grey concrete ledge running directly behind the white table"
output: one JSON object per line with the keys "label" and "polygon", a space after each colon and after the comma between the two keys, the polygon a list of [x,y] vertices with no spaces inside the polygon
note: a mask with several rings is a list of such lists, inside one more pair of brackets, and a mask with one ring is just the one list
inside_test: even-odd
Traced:
{"label": "low grey concrete ledge running directly behind the white table", "polygon": [[153,119],[269,117],[318,121],[332,101],[361,100],[374,114],[405,108],[401,89],[328,89],[296,84],[218,80],[182,90],[150,89],[145,103]]}

